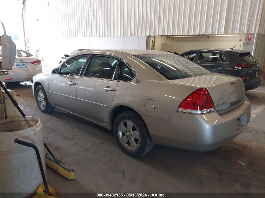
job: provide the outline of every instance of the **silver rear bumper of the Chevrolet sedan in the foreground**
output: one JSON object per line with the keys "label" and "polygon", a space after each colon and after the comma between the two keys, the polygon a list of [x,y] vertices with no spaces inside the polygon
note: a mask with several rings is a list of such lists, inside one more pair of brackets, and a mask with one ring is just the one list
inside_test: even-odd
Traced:
{"label": "silver rear bumper of the Chevrolet sedan in the foreground", "polygon": [[251,104],[243,103],[225,114],[193,115],[176,112],[171,119],[142,116],[154,143],[187,150],[209,151],[233,140],[247,126]]}

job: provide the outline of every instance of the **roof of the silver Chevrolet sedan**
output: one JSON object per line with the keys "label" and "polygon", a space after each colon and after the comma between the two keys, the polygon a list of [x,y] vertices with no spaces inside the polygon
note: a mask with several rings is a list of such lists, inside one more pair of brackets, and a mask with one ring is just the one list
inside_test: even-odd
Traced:
{"label": "roof of the silver Chevrolet sedan", "polygon": [[170,52],[157,51],[151,49],[90,49],[82,51],[82,53],[114,53],[114,52],[124,52],[131,55],[144,55],[144,54],[172,54]]}

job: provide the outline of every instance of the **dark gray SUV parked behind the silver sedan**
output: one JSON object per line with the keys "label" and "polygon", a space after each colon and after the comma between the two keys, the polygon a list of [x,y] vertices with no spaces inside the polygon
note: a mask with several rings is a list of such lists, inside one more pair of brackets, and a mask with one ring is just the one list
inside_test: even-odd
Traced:
{"label": "dark gray SUV parked behind the silver sedan", "polygon": [[233,49],[194,49],[179,55],[211,72],[242,78],[246,91],[261,84],[259,63],[250,52]]}

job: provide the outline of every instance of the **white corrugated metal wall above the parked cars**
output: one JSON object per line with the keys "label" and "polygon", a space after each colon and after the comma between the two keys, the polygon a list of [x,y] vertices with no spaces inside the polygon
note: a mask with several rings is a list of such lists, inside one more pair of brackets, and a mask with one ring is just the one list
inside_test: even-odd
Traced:
{"label": "white corrugated metal wall above the parked cars", "polygon": [[[60,37],[257,33],[264,0],[25,0]],[[37,9],[39,10],[39,8]],[[264,14],[263,14],[264,16]],[[264,22],[264,20],[263,20]],[[48,24],[48,25],[47,25]],[[28,24],[29,25],[29,24]],[[265,34],[264,25],[262,33]]]}

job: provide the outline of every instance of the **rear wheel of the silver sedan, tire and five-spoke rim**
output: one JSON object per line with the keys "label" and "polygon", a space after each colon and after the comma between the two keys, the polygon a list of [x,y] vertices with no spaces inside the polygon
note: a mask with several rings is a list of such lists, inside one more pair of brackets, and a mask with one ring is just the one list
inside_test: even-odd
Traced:
{"label": "rear wheel of the silver sedan, tire and five-spoke rim", "polygon": [[131,157],[145,155],[154,145],[145,122],[132,111],[122,112],[116,117],[113,131],[119,148]]}

